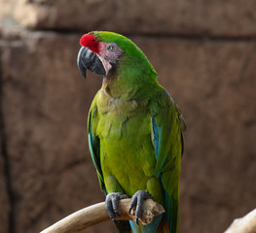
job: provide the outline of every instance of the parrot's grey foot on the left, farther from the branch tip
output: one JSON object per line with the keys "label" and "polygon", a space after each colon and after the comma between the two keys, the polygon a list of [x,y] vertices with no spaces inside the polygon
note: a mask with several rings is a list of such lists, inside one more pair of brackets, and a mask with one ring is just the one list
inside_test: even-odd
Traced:
{"label": "parrot's grey foot on the left, farther from the branch tip", "polygon": [[112,192],[107,194],[106,201],[105,201],[105,208],[108,216],[113,221],[116,221],[115,215],[120,216],[118,211],[119,200],[126,199],[126,198],[128,198],[128,195],[122,194],[121,192]]}

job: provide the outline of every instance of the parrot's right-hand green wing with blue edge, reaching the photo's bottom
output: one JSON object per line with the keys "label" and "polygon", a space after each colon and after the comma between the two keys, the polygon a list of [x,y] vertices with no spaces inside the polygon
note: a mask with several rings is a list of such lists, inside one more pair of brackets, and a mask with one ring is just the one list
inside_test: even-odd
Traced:
{"label": "parrot's right-hand green wing with blue edge, reaching the photo's bottom", "polygon": [[169,232],[178,228],[179,173],[185,120],[168,93],[159,92],[151,103],[152,135],[157,164],[156,176],[165,189],[165,211]]}

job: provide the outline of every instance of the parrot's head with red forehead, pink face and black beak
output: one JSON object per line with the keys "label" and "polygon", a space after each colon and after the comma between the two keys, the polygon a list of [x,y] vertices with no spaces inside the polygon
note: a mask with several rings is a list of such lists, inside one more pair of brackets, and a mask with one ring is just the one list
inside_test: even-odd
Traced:
{"label": "parrot's head with red forehead, pink face and black beak", "polygon": [[112,77],[137,79],[147,74],[157,76],[145,54],[125,36],[107,31],[93,31],[80,39],[77,63],[82,75],[86,71]]}

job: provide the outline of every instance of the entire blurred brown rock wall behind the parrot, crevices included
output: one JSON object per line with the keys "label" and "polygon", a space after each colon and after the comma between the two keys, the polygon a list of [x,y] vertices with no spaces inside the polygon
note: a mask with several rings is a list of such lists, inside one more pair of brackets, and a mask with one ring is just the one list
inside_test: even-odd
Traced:
{"label": "entire blurred brown rock wall behind the parrot, crevices included", "polygon": [[[188,124],[180,233],[223,232],[256,207],[254,0],[0,0],[1,233],[35,233],[104,200],[87,142],[101,78],[80,37],[133,40]],[[116,232],[112,222],[87,232]]]}

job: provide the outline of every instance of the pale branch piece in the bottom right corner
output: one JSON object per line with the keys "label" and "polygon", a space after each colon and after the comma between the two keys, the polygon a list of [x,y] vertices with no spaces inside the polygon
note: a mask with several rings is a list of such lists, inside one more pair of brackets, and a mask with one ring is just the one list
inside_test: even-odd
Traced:
{"label": "pale branch piece in the bottom right corner", "polygon": [[224,233],[256,233],[256,209],[246,216],[235,219]]}

